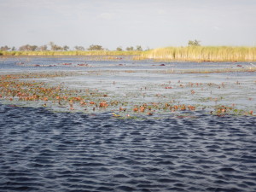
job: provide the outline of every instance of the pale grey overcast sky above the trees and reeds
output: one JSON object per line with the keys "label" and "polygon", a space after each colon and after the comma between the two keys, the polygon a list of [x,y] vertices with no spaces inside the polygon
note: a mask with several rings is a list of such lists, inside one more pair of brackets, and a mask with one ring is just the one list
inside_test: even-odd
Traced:
{"label": "pale grey overcast sky above the trees and reeds", "polygon": [[0,46],[255,46],[256,0],[0,0]]}

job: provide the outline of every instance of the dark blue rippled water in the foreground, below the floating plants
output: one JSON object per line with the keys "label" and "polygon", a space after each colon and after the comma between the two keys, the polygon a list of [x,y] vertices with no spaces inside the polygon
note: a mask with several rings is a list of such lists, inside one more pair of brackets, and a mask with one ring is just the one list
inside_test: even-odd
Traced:
{"label": "dark blue rippled water in the foreground, below the floating plants", "polygon": [[256,191],[255,127],[0,105],[0,191]]}

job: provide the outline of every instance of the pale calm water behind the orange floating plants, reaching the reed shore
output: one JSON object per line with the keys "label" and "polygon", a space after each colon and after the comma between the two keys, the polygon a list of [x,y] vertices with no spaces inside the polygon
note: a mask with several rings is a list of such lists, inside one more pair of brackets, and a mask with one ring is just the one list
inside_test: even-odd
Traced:
{"label": "pale calm water behind the orange floating plants, reaching the reed shore", "polygon": [[[236,105],[236,108],[247,113],[256,111],[256,73],[236,71],[252,67],[249,62],[155,62],[121,58],[110,61],[96,56],[9,57],[2,58],[0,73],[76,73],[70,77],[34,80],[55,86],[65,84],[65,87],[79,91],[97,90],[108,95],[107,98],[98,100],[127,101],[131,103],[130,109],[143,102],[174,101],[173,104],[210,107],[209,111],[217,105]],[[79,66],[80,64],[85,66]],[[206,70],[233,71],[191,73]],[[166,89],[169,87],[172,89]],[[195,94],[191,94],[192,90]],[[50,108],[59,110],[54,104],[50,105]],[[77,110],[84,110],[79,106],[75,107]],[[118,111],[118,108],[109,110]],[[91,109],[87,111],[91,112]]]}

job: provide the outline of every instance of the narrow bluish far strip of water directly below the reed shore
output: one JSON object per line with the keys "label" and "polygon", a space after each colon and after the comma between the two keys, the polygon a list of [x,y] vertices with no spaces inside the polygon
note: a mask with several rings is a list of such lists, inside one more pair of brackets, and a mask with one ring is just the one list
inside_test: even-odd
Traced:
{"label": "narrow bluish far strip of water directly below the reed shore", "polygon": [[[113,57],[115,58],[115,57]],[[249,62],[166,62],[133,61],[130,56],[108,60],[104,56],[16,56],[0,58],[0,66],[5,70],[188,70],[188,69],[227,69],[252,67]],[[82,64],[82,65],[81,65]],[[87,64],[87,65],[83,65]],[[164,66],[161,66],[163,65]],[[38,65],[38,66],[37,66]],[[241,67],[237,67],[240,65]]]}

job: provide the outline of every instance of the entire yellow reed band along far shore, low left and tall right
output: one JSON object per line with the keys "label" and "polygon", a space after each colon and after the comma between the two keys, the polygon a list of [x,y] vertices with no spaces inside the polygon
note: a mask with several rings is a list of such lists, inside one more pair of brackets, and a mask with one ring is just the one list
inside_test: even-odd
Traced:
{"label": "entire yellow reed band along far shore, low left and tall right", "polygon": [[[155,61],[256,61],[256,47],[188,46],[166,47],[146,51],[0,51],[2,56],[109,56],[109,60],[132,56],[133,60]],[[108,58],[107,58],[108,59]]]}

